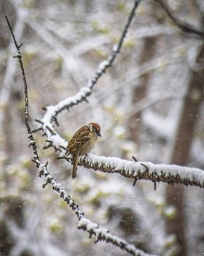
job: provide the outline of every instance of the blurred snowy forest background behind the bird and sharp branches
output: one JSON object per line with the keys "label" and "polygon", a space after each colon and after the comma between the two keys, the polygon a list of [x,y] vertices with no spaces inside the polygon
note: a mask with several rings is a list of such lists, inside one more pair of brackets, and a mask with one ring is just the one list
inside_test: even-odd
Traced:
{"label": "blurred snowy forest background behind the bird and sharp branches", "polygon": [[[180,20],[204,28],[203,0],[168,0]],[[93,244],[50,186],[42,189],[24,123],[23,80],[4,19],[23,42],[30,116],[85,86],[125,26],[133,1],[0,1],[0,255],[127,255]],[[154,163],[204,167],[204,45],[182,33],[153,0],[141,1],[121,52],[89,98],[60,114],[69,140],[89,121],[101,124],[93,153]],[[39,148],[42,134],[36,133]],[[40,149],[53,176],[87,217],[145,252],[203,255],[204,192],[195,187],[133,181],[57,160]]]}

